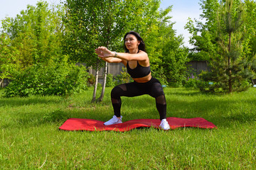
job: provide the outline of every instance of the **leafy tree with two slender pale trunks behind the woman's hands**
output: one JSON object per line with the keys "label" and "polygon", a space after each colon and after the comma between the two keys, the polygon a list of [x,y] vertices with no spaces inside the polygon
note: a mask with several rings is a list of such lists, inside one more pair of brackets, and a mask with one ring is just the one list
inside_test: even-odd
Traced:
{"label": "leafy tree with two slender pale trunks behind the woman's hands", "polygon": [[[152,60],[151,68],[157,71],[157,62],[161,50],[156,50],[156,41],[160,33],[159,28],[169,23],[167,16],[171,8],[159,11],[160,0],[148,1],[73,1],[65,2],[68,11],[65,17],[67,39],[65,51],[75,62],[85,62],[96,70],[102,67],[102,60],[94,54],[95,47],[105,45],[110,50],[122,50],[122,36],[129,30],[137,31],[144,37]],[[172,29],[172,27],[169,27]],[[157,35],[156,35],[157,33]],[[161,32],[164,33],[164,32]],[[159,42],[159,40],[158,40]],[[156,67],[155,67],[156,66]],[[107,63],[105,63],[105,78],[107,77]],[[97,80],[97,72],[96,72]],[[105,81],[104,81],[105,82]],[[104,96],[105,83],[102,85]],[[95,90],[97,89],[97,81]],[[92,101],[96,100],[94,92]]]}

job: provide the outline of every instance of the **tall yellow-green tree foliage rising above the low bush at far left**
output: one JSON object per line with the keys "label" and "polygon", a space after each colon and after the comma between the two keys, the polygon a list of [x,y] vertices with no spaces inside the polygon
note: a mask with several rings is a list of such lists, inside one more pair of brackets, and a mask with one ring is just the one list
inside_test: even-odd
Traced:
{"label": "tall yellow-green tree foliage rising above the low bush at far left", "polygon": [[[36,6],[28,5],[16,18],[2,21],[2,36],[10,39],[9,47],[18,51],[17,71],[33,64],[51,64],[62,57],[64,9],[61,6],[48,7],[46,1],[38,1]],[[18,62],[17,62],[18,61]]]}

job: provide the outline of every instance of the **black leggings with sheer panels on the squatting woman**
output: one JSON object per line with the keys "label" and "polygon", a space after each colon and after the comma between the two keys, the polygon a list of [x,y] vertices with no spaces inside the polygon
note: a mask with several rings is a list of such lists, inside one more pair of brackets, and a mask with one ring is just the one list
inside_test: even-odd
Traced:
{"label": "black leggings with sheer panels on the squatting woman", "polygon": [[114,115],[121,116],[122,106],[121,96],[134,97],[149,94],[156,98],[156,108],[159,111],[160,120],[166,118],[166,98],[164,90],[158,79],[152,78],[146,83],[137,83],[136,81],[128,84],[115,86],[111,91],[111,101],[114,108]]}

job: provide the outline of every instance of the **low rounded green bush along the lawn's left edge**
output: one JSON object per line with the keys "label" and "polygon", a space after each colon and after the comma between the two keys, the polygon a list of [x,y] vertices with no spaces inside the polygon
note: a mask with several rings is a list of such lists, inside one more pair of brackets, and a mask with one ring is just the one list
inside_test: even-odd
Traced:
{"label": "low rounded green bush along the lawn's left edge", "polygon": [[84,67],[55,64],[51,67],[34,65],[18,72],[9,86],[6,96],[68,95],[87,89],[88,73]]}

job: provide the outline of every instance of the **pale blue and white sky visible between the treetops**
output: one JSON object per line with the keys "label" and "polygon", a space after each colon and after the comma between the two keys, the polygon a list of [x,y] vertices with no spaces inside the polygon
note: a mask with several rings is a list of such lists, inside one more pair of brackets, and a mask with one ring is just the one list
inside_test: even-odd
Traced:
{"label": "pale blue and white sky visible between the treetops", "polygon": [[[38,0],[0,0],[0,20],[6,16],[16,17],[22,10],[26,9],[28,4],[35,6]],[[60,0],[45,0],[48,4],[59,4]],[[160,8],[167,8],[173,6],[170,13],[171,22],[175,22],[174,30],[176,35],[183,35],[184,45],[186,47],[192,47],[189,45],[188,40],[191,36],[187,30],[184,30],[184,26],[190,18],[199,18],[201,14],[200,0],[162,0]],[[1,27],[1,23],[0,23]]]}

